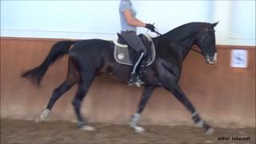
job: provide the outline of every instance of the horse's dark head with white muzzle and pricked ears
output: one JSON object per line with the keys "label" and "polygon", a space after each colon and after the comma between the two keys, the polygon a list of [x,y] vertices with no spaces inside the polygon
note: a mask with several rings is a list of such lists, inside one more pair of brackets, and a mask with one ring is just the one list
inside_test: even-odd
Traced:
{"label": "horse's dark head with white muzzle and pricked ears", "polygon": [[206,26],[205,30],[198,34],[198,38],[196,38],[196,45],[200,48],[201,53],[206,58],[206,62],[211,65],[217,62],[217,49],[214,34],[214,26],[217,24],[218,22],[209,24]]}

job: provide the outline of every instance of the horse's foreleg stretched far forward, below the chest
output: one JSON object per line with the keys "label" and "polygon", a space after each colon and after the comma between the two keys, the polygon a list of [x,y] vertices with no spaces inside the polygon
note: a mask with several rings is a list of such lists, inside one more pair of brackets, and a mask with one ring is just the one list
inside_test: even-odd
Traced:
{"label": "horse's foreleg stretched far forward, below the chest", "polygon": [[214,132],[214,129],[211,128],[206,122],[200,118],[198,112],[195,110],[194,106],[190,102],[188,98],[186,98],[186,95],[182,92],[178,84],[165,86],[166,90],[170,91],[172,94],[174,94],[175,98],[178,98],[179,102],[182,102],[184,106],[186,106],[186,109],[189,110],[192,114],[192,119],[196,126],[205,128],[206,134],[212,134]]}

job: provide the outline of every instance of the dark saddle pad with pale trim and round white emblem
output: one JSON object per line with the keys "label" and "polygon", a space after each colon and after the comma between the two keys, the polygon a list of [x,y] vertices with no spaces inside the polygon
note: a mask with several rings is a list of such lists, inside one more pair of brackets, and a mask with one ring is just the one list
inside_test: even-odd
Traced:
{"label": "dark saddle pad with pale trim and round white emblem", "polygon": [[[148,34],[139,34],[138,37],[141,38],[147,50],[142,66],[150,66],[154,62],[155,58],[154,43]],[[121,34],[118,34],[118,39],[113,40],[113,42],[115,61],[123,65],[133,66],[134,57],[137,52],[126,43]]]}

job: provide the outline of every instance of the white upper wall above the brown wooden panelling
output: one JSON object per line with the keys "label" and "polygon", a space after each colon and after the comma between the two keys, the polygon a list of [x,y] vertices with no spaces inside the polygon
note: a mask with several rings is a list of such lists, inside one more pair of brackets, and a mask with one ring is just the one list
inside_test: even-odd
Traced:
{"label": "white upper wall above the brown wooden panelling", "polygon": [[[255,1],[136,1],[138,18],[165,33],[186,22],[217,22],[217,43],[255,46]],[[1,1],[1,36],[115,38],[116,1]],[[141,28],[139,33],[145,33]],[[153,35],[153,34],[152,34]]]}

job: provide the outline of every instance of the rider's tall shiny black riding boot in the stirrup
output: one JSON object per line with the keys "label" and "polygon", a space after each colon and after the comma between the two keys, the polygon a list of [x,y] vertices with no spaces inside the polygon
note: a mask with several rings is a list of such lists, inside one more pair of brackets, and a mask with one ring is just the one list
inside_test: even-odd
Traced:
{"label": "rider's tall shiny black riding boot in the stirrup", "polygon": [[136,58],[133,70],[130,73],[130,80],[128,82],[129,86],[134,86],[135,85],[135,86],[139,87],[139,86],[142,85],[143,82],[139,78],[138,72],[139,72],[139,69],[142,65],[142,61],[143,61],[144,57],[145,57],[145,54],[143,52],[138,54],[138,58]]}

